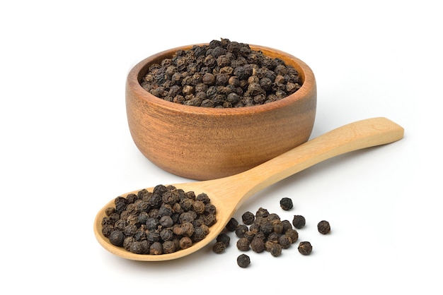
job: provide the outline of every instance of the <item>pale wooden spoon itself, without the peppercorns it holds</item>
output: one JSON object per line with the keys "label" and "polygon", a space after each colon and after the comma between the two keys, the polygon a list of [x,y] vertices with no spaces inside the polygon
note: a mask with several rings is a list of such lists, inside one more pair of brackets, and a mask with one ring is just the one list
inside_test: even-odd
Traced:
{"label": "pale wooden spoon itself, without the peppercorns it holds", "polygon": [[[184,191],[194,191],[196,195],[206,193],[211,203],[217,208],[217,223],[209,228],[210,232],[205,239],[190,248],[175,253],[149,255],[134,254],[124,248],[113,246],[101,232],[101,220],[105,217],[106,208],[114,205],[114,200],[106,204],[96,215],[93,228],[96,239],[110,253],[130,260],[161,261],[190,255],[214,241],[217,235],[224,230],[238,207],[254,193],[331,157],[376,145],[393,143],[403,138],[403,133],[403,128],[389,119],[382,117],[366,119],[329,131],[243,173],[222,179],[173,184]],[[152,191],[153,188],[147,188],[147,190]],[[137,191],[130,193],[137,193]],[[125,193],[122,196],[128,194]]]}

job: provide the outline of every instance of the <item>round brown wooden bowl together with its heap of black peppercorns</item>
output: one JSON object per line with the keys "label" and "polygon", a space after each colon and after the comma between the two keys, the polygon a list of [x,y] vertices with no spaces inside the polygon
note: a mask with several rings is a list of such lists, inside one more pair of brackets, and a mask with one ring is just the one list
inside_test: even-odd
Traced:
{"label": "round brown wooden bowl together with its heap of black peppercorns", "polygon": [[127,76],[126,108],[147,159],[188,179],[217,179],[306,142],[316,80],[280,50],[212,40],[140,61]]}

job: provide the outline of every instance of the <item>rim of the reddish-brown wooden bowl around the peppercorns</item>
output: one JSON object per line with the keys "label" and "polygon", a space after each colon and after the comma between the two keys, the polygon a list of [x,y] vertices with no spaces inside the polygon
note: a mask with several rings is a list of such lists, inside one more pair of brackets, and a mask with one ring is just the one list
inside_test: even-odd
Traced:
{"label": "rim of the reddish-brown wooden bowl around the peppercorns", "polygon": [[[140,84],[140,79],[142,76],[142,71],[144,71],[149,65],[153,64],[154,61],[165,59],[167,56],[172,56],[177,50],[187,50],[191,49],[193,46],[202,46],[207,45],[209,43],[200,43],[200,44],[188,44],[185,46],[174,47],[171,49],[163,50],[162,52],[158,52],[151,56],[146,57],[142,61],[139,61],[127,75],[127,92],[131,91],[133,94],[139,99],[144,100],[146,103],[154,104],[163,109],[168,109],[175,112],[182,112],[187,114],[207,114],[207,115],[234,115],[234,114],[255,114],[258,112],[270,112],[275,109],[280,109],[282,107],[286,107],[287,105],[294,104],[306,95],[314,90],[316,91],[316,79],[313,74],[311,68],[304,62],[298,59],[296,56],[292,54],[288,54],[287,52],[283,52],[279,49],[274,49],[271,47],[265,47],[262,45],[256,44],[248,44],[249,47],[253,50],[260,50],[265,55],[268,55],[268,52],[272,52],[274,57],[284,56],[284,59],[288,59],[292,61],[292,66],[297,68],[299,75],[303,79],[303,84],[301,88],[296,92],[292,93],[292,95],[288,95],[287,97],[282,98],[281,100],[276,100],[275,102],[269,102],[267,104],[256,104],[248,107],[231,107],[231,108],[214,108],[214,107],[196,107],[189,106],[186,104],[178,104],[176,102],[168,102],[159,97],[151,95],[151,93],[147,92],[142,85]],[[285,61],[286,63],[287,61]],[[314,89],[313,89],[314,88]]]}

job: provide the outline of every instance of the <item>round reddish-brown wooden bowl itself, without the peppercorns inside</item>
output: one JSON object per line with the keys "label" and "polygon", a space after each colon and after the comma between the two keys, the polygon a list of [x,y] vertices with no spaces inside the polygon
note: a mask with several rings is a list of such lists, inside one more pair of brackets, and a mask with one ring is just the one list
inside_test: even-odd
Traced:
{"label": "round reddish-brown wooden bowl itself, without the peppercorns inside", "polygon": [[192,107],[162,100],[142,88],[151,64],[191,47],[149,56],[127,76],[127,121],[147,159],[188,179],[217,179],[251,169],[309,139],[316,116],[316,80],[309,66],[280,50],[250,44],[299,72],[301,88],[275,102],[229,109]]}

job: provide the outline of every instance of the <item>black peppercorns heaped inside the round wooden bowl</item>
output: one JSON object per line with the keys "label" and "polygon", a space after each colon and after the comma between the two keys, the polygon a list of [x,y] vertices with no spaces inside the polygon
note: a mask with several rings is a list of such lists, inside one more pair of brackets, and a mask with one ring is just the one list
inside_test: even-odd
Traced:
{"label": "black peppercorns heaped inside the round wooden bowl", "polygon": [[297,70],[248,44],[228,39],[179,49],[152,64],[140,83],[163,100],[195,107],[248,107],[280,100],[301,88]]}

